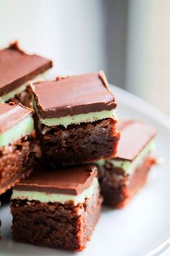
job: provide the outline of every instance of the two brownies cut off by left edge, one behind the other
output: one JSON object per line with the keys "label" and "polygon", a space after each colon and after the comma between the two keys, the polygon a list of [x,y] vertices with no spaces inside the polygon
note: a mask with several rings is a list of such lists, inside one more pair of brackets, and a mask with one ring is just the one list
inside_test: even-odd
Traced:
{"label": "two brownies cut off by left edge, one behind the other", "polygon": [[24,53],[17,42],[0,50],[0,195],[32,170],[37,142],[33,111],[24,106],[31,103],[29,81],[50,67],[52,61]]}

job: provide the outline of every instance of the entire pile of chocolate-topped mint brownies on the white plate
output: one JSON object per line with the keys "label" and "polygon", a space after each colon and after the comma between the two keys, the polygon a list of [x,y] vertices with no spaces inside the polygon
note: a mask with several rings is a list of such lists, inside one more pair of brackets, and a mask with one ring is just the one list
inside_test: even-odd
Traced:
{"label": "entire pile of chocolate-topped mint brownies on the white plate", "polygon": [[[0,51],[0,72],[9,70],[0,81],[1,101],[10,101],[0,104],[0,194],[14,186],[13,239],[79,252],[102,201],[121,208],[145,184],[155,131],[139,121],[117,129],[117,103],[102,71],[27,87],[51,66],[17,43]],[[34,125],[26,106],[34,108]]]}

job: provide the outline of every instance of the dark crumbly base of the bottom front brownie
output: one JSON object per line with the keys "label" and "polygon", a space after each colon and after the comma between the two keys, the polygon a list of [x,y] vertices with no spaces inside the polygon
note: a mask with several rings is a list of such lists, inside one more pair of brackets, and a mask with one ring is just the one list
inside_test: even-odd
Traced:
{"label": "dark crumbly base of the bottom front brownie", "polygon": [[79,252],[86,247],[97,224],[101,202],[99,191],[76,206],[71,203],[12,200],[13,239]]}

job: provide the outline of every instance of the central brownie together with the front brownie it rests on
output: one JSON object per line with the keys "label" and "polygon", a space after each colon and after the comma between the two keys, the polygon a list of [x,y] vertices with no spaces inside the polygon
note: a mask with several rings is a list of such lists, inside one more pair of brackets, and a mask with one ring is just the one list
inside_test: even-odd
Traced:
{"label": "central brownie together with the front brownie it rests on", "polygon": [[31,88],[42,160],[14,187],[12,234],[81,251],[101,212],[94,163],[117,151],[115,98],[104,72],[32,82]]}

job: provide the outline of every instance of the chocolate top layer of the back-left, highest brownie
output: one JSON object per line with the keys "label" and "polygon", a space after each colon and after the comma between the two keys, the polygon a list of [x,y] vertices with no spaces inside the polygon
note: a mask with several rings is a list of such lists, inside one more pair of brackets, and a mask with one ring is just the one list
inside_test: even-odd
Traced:
{"label": "chocolate top layer of the back-left, highest brownie", "polygon": [[17,42],[0,50],[0,96],[11,92],[52,67],[52,61],[25,54]]}

